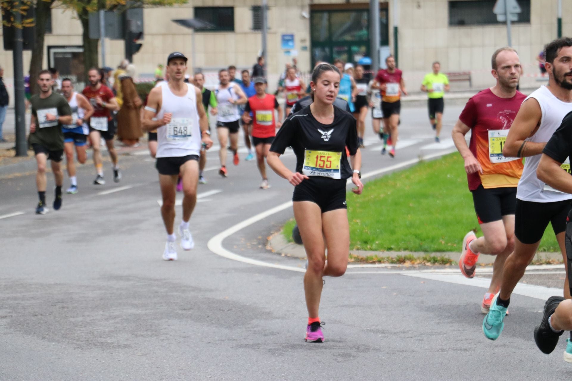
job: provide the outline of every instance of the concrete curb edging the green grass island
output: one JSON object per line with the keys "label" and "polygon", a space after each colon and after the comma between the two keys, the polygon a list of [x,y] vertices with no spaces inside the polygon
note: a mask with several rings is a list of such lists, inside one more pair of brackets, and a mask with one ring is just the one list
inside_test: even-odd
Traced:
{"label": "concrete curb edging the green grass island", "polygon": [[[287,256],[294,256],[296,258],[305,259],[306,252],[304,250],[304,246],[301,244],[296,244],[292,242],[288,242],[282,231],[274,234],[271,239],[268,240],[268,248],[277,254],[287,255]],[[350,250],[349,251],[353,255],[359,256],[370,256],[370,255],[379,255],[379,256],[391,256],[395,258],[398,255],[409,255],[412,254],[416,257],[420,257],[423,255],[435,255],[435,256],[446,256],[447,258],[451,258],[455,262],[459,262],[460,252],[410,252],[410,251],[366,251],[366,250]],[[495,261],[496,256],[494,255],[486,255],[481,254],[479,255],[479,260],[477,263],[479,264],[492,264]],[[562,254],[559,252],[537,252],[534,256],[534,260],[547,260],[547,259],[554,259],[562,261]]]}

